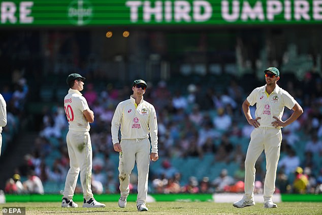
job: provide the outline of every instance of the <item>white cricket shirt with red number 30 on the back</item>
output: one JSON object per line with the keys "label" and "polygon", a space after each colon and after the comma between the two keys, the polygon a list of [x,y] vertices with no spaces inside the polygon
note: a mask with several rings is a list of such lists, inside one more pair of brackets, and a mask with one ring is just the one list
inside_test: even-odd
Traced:
{"label": "white cricket shirt with red number 30 on the back", "polygon": [[71,131],[89,131],[90,126],[83,111],[89,109],[80,91],[69,89],[64,99],[64,109]]}

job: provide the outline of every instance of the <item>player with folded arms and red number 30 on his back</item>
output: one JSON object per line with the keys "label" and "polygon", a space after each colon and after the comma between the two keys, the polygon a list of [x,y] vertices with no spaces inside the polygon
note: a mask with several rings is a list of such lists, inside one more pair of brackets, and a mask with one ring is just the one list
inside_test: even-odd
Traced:
{"label": "player with folded arms and red number 30 on his back", "polygon": [[80,91],[84,88],[85,78],[77,73],[67,77],[70,86],[64,99],[64,108],[69,122],[66,141],[70,158],[70,169],[65,182],[61,207],[78,207],[73,202],[74,191],[80,172],[81,185],[84,195],[83,207],[105,207],[93,198],[91,191],[92,148],[89,135],[89,122],[94,121],[94,113],[89,109],[86,99]]}

